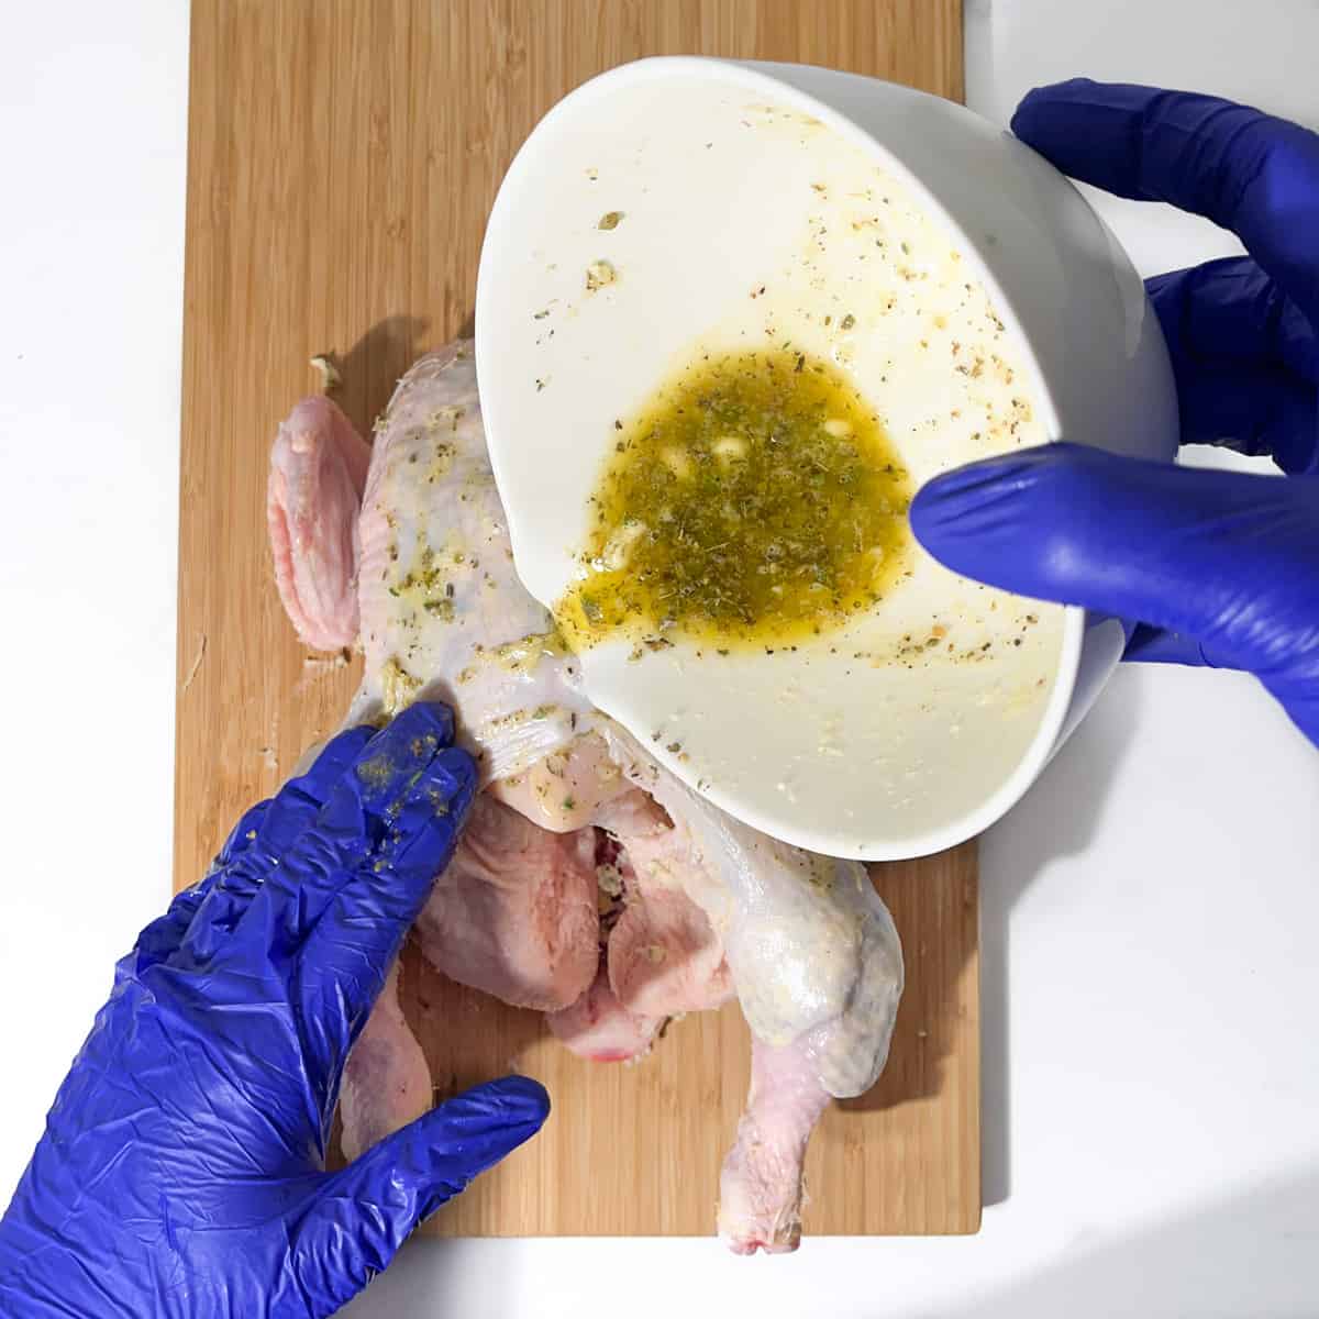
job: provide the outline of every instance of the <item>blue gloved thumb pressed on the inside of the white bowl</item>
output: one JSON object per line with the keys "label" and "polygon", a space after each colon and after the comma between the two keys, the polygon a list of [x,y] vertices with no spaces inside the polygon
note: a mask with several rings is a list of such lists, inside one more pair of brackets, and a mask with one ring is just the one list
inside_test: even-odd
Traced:
{"label": "blue gloved thumb pressed on the inside of the white bowl", "polygon": [[1049,445],[958,468],[911,504],[956,572],[1179,633],[1270,685],[1319,666],[1319,483]]}

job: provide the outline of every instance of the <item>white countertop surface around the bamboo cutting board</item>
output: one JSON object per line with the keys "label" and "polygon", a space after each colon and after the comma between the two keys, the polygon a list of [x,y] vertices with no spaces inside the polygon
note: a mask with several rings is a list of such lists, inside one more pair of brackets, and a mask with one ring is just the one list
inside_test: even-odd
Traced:
{"label": "white countertop surface around the bamboo cutting board", "polygon": [[[0,1200],[169,893],[187,78],[181,0],[5,21]],[[967,0],[998,120],[1086,73],[1319,127],[1316,49],[1311,0]],[[1104,210],[1148,272],[1231,251]],[[979,1237],[423,1244],[352,1314],[1319,1314],[1316,801],[1319,754],[1250,679],[1132,669],[988,836]]]}

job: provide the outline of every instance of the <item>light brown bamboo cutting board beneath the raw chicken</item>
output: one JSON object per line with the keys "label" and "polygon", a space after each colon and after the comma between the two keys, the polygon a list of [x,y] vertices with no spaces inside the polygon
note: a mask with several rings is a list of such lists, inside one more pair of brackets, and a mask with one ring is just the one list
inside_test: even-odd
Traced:
{"label": "light brown bamboo cutting board beneath the raw chicken", "polygon": [[[265,546],[266,455],[332,351],[364,434],[472,306],[485,215],[537,119],[648,54],[832,65],[962,94],[959,0],[195,0],[179,533],[175,882],[332,731],[360,661],[310,656]],[[811,1141],[807,1233],[980,1223],[973,845],[877,867],[907,959],[880,1084]],[[736,1006],[587,1064],[532,1013],[404,959],[442,1093],[517,1068],[543,1133],[442,1211],[450,1236],[706,1235],[747,1084]]]}

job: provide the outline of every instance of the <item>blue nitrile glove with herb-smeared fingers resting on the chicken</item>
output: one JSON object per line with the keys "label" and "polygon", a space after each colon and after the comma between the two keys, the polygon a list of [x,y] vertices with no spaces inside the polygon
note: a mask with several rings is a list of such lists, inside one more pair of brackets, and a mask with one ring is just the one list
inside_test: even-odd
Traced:
{"label": "blue nitrile glove with herb-smeared fingers resting on the chicken", "polygon": [[0,1221],[5,1319],[322,1319],[532,1136],[468,1091],[339,1173],[344,1058],[471,803],[443,706],[342,733],[149,925]]}

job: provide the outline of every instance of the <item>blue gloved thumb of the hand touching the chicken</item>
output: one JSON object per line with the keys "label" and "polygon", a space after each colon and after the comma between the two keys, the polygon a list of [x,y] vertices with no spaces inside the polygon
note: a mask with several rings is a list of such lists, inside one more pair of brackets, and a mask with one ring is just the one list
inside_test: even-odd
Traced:
{"label": "blue gloved thumb of the hand touching the chicken", "polygon": [[294,1246],[302,1287],[346,1302],[413,1228],[530,1140],[549,1112],[543,1086],[506,1076],[464,1091],[326,1177]]}

